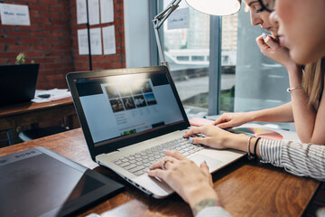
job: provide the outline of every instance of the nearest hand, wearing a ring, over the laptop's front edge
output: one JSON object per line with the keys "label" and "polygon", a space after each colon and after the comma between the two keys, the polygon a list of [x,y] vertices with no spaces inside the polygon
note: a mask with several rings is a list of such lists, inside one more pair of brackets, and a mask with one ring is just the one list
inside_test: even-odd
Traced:
{"label": "nearest hand, wearing a ring, over the laptop's front edge", "polygon": [[218,201],[206,163],[199,168],[177,151],[166,151],[164,154],[165,158],[150,167],[149,176],[156,176],[169,184],[191,207],[205,199]]}

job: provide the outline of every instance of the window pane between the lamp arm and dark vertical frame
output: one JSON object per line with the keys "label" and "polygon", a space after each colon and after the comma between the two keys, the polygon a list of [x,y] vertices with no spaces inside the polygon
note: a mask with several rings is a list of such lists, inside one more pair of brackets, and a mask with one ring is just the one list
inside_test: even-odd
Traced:
{"label": "window pane between the lamp arm and dark vertical frame", "polygon": [[[163,9],[171,3],[163,0]],[[175,28],[171,20],[189,18],[188,24]],[[163,47],[172,78],[188,116],[208,114],[209,92],[209,15],[202,14],[182,1],[163,24]]]}

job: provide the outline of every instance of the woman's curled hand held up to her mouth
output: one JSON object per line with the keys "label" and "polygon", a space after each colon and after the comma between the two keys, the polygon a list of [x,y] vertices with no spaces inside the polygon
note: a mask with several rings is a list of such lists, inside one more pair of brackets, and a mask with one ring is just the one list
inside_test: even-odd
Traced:
{"label": "woman's curled hand held up to her mouth", "polygon": [[256,38],[256,42],[266,57],[279,62],[288,70],[292,66],[296,66],[296,63],[290,58],[289,50],[280,46],[280,43],[274,36],[263,33]]}

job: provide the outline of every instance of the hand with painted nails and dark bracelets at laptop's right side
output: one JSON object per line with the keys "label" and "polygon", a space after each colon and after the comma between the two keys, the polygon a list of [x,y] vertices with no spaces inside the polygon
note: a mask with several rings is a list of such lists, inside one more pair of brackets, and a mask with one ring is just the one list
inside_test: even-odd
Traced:
{"label": "hand with painted nails and dark bracelets at laptop's right side", "polygon": [[203,134],[205,137],[191,137],[190,140],[192,140],[193,144],[201,144],[216,149],[231,147],[232,143],[236,143],[238,136],[219,127],[206,125],[190,129],[190,131],[185,133],[184,137],[190,137],[196,134]]}

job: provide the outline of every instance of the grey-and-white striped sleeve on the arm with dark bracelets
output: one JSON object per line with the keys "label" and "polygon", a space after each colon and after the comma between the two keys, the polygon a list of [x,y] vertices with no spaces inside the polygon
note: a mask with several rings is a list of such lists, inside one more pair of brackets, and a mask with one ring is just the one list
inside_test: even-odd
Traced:
{"label": "grey-and-white striped sleeve on the arm with dark bracelets", "polygon": [[325,181],[325,146],[297,141],[261,139],[262,163],[269,163],[299,176]]}

